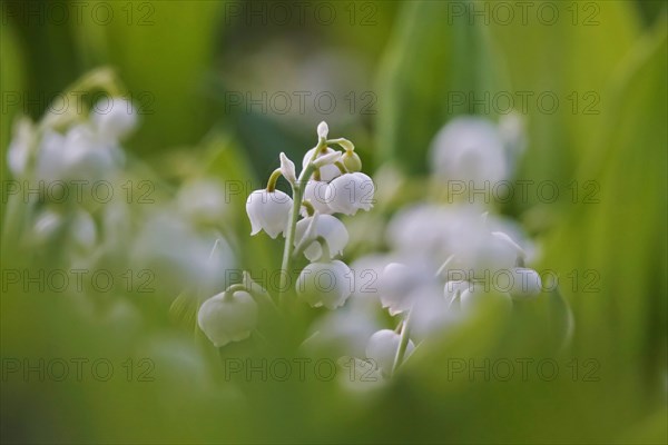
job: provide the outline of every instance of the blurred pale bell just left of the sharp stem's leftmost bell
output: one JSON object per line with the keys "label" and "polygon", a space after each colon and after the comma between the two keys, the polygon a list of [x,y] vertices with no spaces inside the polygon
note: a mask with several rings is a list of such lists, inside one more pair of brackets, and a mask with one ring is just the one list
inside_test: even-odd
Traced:
{"label": "blurred pale bell just left of the sharp stem's leftmost bell", "polygon": [[225,190],[214,179],[185,184],[178,191],[177,206],[191,220],[208,225],[219,224],[228,210]]}

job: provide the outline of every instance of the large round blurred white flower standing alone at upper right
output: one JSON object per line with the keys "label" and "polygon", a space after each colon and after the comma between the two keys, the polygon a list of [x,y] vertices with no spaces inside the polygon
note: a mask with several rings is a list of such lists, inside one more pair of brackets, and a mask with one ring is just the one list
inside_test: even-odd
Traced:
{"label": "large round blurred white flower standing alone at upper right", "polygon": [[503,141],[497,127],[478,117],[458,117],[445,125],[431,147],[433,172],[448,181],[482,188],[508,177]]}

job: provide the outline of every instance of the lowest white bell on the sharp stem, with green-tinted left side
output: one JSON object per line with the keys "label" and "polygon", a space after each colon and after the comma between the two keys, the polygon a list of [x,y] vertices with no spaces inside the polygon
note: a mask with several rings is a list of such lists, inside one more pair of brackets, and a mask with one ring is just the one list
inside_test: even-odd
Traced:
{"label": "lowest white bell on the sharp stem, with green-tinted left side", "polygon": [[297,278],[299,298],[312,307],[335,309],[351,296],[352,271],[340,260],[311,263]]}

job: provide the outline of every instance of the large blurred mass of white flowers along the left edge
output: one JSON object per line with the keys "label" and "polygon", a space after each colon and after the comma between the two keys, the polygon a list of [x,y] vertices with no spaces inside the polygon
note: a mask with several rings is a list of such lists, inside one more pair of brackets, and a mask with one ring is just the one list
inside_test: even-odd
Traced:
{"label": "large blurred mass of white flowers along the left edge", "polygon": [[130,286],[128,268],[167,295],[220,286],[219,271],[234,264],[220,235],[228,207],[222,185],[194,179],[170,199],[150,169],[136,168],[122,145],[138,112],[120,89],[112,71],[99,69],[65,92],[104,92],[97,102],[17,120],[3,247],[50,268],[120,270],[114,281],[125,280],[125,289],[140,288],[140,280]]}

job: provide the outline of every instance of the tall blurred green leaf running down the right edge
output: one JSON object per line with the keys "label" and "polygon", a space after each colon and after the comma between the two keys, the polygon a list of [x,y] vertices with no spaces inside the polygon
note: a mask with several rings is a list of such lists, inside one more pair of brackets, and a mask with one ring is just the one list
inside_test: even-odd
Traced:
{"label": "tall blurred green leaf running down the right edge", "polygon": [[600,202],[576,206],[546,255],[580,279],[563,288],[577,350],[609,359],[637,394],[661,385],[666,372],[666,51],[660,23],[626,61],[609,92],[607,131],[579,174],[596,178]]}

